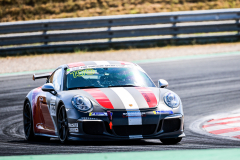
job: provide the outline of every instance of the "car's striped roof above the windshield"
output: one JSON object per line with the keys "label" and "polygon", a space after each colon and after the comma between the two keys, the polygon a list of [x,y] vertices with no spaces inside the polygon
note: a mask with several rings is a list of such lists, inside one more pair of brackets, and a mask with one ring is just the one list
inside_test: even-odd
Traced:
{"label": "car's striped roof above the windshield", "polygon": [[135,65],[132,62],[124,62],[124,61],[82,61],[82,62],[75,62],[75,63],[69,63],[67,64],[68,68],[73,67],[80,67],[80,66],[88,66],[88,65],[126,65],[126,64],[132,64]]}

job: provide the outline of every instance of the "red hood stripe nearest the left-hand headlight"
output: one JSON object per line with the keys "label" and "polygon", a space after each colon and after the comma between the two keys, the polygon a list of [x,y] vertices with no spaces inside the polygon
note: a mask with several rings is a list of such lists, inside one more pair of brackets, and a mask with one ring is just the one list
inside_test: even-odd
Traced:
{"label": "red hood stripe nearest the left-hand headlight", "polygon": [[95,98],[98,103],[107,109],[114,109],[111,101],[100,89],[83,89],[85,92],[88,92]]}

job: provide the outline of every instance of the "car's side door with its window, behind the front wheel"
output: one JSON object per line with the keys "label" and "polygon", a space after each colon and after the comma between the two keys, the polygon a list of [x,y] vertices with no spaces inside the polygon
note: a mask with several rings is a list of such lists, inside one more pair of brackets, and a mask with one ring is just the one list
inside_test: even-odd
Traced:
{"label": "car's side door with its window, behind the front wheel", "polygon": [[[62,85],[62,69],[57,69],[49,78],[49,83],[52,83],[55,90],[59,92]],[[56,135],[57,127],[55,123],[56,117],[56,95],[52,93],[45,92],[45,96],[42,96],[42,103],[40,103],[40,108],[42,111],[43,119],[43,129],[41,133]]]}

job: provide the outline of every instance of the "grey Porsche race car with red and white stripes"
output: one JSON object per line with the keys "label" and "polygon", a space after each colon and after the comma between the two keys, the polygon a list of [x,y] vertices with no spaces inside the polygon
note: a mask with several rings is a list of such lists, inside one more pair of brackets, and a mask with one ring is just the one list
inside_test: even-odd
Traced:
{"label": "grey Porsche race car with red and white stripes", "polygon": [[179,96],[158,87],[137,64],[84,61],[64,64],[31,90],[23,105],[25,137],[29,141],[160,139],[177,144],[184,134]]}

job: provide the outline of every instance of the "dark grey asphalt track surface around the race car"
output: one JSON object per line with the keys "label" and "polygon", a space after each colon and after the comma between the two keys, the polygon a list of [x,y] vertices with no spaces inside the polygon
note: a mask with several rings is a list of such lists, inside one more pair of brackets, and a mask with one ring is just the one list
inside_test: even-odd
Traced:
{"label": "dark grey asphalt track surface around the race car", "polygon": [[208,148],[240,148],[240,141],[196,134],[189,129],[194,120],[225,113],[240,107],[240,56],[224,56],[142,64],[157,84],[169,82],[169,89],[182,99],[186,137],[177,145],[160,140],[73,142],[61,144],[28,142],[23,136],[22,105],[26,94],[45,80],[33,81],[31,75],[0,77],[0,156],[95,152],[158,151]]}

